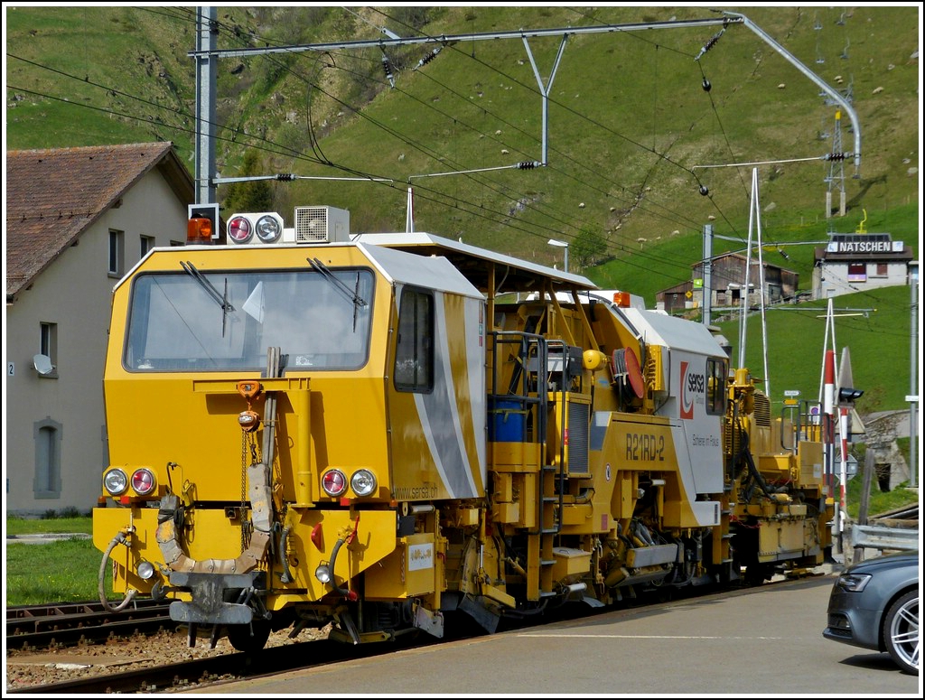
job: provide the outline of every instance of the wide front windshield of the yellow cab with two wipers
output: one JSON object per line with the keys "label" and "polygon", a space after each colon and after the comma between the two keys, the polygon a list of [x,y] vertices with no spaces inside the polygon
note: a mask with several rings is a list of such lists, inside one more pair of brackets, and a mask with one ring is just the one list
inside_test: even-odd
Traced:
{"label": "wide front windshield of the yellow cab with two wipers", "polygon": [[[320,264],[319,264],[320,265]],[[373,274],[364,268],[137,276],[123,363],[131,372],[262,371],[278,347],[288,371],[366,362]]]}

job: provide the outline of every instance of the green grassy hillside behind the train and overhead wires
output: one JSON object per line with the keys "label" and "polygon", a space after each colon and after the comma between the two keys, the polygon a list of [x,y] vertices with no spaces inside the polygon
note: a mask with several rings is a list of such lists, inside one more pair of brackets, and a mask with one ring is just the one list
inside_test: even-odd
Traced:
{"label": "green grassy hillside behind the train and overhead wires", "polygon": [[[382,28],[432,41],[218,59],[217,169],[240,176],[255,153],[248,174],[302,177],[272,183],[277,211],[337,206],[354,231],[403,230],[410,183],[417,230],[540,264],[562,262],[549,239],[569,241],[573,271],[649,307],[690,278],[706,224],[715,253],[744,247],[753,168],[766,254],[799,274],[799,289],[810,288],[814,244],[862,222],[918,254],[920,7],[728,9],[850,98],[859,168],[851,120],[836,119],[833,100],[746,26],[440,41],[721,17],[708,6],[224,6],[220,50],[379,39]],[[8,149],[174,141],[192,169],[195,8],[4,11]],[[536,73],[549,92],[545,141]],[[542,160],[544,144],[546,166],[513,167]],[[833,151],[848,157],[824,160]],[[837,204],[842,188],[847,215],[829,217],[826,192]],[[578,254],[579,236],[596,243],[591,254]],[[906,407],[908,297],[837,300],[876,309],[836,322],[870,410]],[[818,393],[819,313],[768,314],[773,399],[784,388]],[[748,362],[760,375],[759,331],[750,319]]]}

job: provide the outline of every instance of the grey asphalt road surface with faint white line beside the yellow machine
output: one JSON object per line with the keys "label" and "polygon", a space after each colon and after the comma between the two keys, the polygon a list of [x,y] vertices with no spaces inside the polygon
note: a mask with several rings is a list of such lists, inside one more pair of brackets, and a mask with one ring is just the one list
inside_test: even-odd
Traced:
{"label": "grey asphalt road surface with faint white line beside the yellow machine", "polygon": [[921,697],[887,654],[822,637],[835,574],[623,609],[191,693]]}

